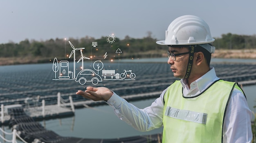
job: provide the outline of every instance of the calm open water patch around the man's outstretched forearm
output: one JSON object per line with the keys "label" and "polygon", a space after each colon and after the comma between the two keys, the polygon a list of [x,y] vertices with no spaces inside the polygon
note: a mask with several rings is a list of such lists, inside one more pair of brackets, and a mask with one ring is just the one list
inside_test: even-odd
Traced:
{"label": "calm open water patch around the man's outstretched forearm", "polygon": [[[149,106],[154,100],[150,99],[131,103],[139,108],[144,108]],[[121,121],[108,105],[76,109],[75,118],[52,119],[45,121],[45,125],[47,130],[53,130],[64,137],[94,139],[112,139],[162,132],[162,128],[150,132],[139,132],[124,121]]]}

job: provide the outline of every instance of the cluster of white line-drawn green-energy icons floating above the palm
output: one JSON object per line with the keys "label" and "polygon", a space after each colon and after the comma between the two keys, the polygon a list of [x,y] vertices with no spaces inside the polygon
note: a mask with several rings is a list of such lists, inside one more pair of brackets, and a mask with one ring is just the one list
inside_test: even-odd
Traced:
{"label": "cluster of white line-drawn green-energy icons floating above the palm", "polygon": [[[114,43],[115,42],[115,36],[114,34],[111,34],[107,37],[108,43]],[[115,69],[103,69],[103,63],[101,61],[94,61],[93,65],[91,65],[94,69],[84,69],[84,59],[90,59],[92,60],[92,53],[90,58],[87,56],[84,56],[83,49],[85,48],[75,48],[75,46],[68,41],[72,51],[70,55],[68,56],[71,58],[73,56],[73,64],[74,64],[74,70],[70,70],[73,67],[70,67],[69,60],[65,61],[58,61],[57,58],[54,58],[52,70],[55,73],[55,78],[52,80],[74,80],[76,82],[79,82],[81,85],[85,85],[87,82],[91,82],[93,85],[97,85],[99,82],[102,82],[103,80],[135,80],[135,73],[132,73],[132,70],[124,70],[122,73],[117,73]],[[98,46],[97,41],[92,42],[92,48],[95,48]],[[112,46],[110,45],[111,48]],[[102,48],[102,47],[101,47]],[[104,47],[103,47],[104,48]],[[78,61],[76,61],[76,52],[77,50],[80,50],[81,57]],[[119,55],[122,53],[121,49],[118,48],[116,50],[116,53]],[[103,56],[97,56],[101,57],[103,59],[106,59],[108,56],[108,53],[106,52]],[[120,60],[119,60],[120,61]],[[76,68],[77,63],[81,62],[82,66],[81,69]],[[119,64],[119,63],[118,63]],[[117,69],[119,71],[119,69]],[[76,74],[76,72],[78,74]],[[57,75],[57,73],[59,75]]]}

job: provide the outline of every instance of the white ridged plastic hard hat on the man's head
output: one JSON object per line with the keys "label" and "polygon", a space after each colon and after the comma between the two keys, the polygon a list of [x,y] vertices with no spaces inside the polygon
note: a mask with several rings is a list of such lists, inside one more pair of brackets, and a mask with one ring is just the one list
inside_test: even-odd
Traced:
{"label": "white ridged plastic hard hat on the man's head", "polygon": [[212,43],[214,40],[204,20],[194,15],[184,15],[173,20],[165,32],[165,40],[156,43],[159,45],[198,44],[213,53],[215,47],[206,43]]}

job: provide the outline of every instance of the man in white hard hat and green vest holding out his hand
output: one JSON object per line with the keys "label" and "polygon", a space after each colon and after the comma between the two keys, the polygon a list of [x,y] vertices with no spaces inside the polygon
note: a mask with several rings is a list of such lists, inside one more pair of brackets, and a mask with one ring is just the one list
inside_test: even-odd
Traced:
{"label": "man in white hard hat and green vest holding out his hand", "polygon": [[164,126],[163,143],[250,143],[252,112],[238,84],[220,80],[209,66],[213,41],[209,26],[200,17],[175,19],[166,30],[166,39],[157,43],[168,45],[168,64],[181,80],[144,109],[106,87],[87,87],[76,94],[106,101],[137,130]]}

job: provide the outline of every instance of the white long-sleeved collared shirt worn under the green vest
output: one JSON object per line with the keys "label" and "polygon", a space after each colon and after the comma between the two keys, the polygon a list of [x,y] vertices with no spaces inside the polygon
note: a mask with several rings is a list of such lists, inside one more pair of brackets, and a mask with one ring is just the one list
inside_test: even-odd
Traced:
{"label": "white long-sleeved collared shirt worn under the green vest", "polygon": [[[191,83],[190,89],[186,80],[180,80],[183,86],[183,95],[193,97],[198,95],[204,89],[209,87],[219,78],[216,76],[215,70],[211,70]],[[115,92],[108,100],[108,104],[114,108],[116,115],[133,128],[139,131],[149,131],[160,128],[163,121],[164,102],[163,97],[166,89],[162,92],[151,106],[139,109],[120,98]],[[196,105],[195,105],[196,106]],[[252,111],[249,109],[247,100],[243,93],[238,89],[232,92],[223,126],[223,142],[224,143],[251,143],[252,141]]]}

